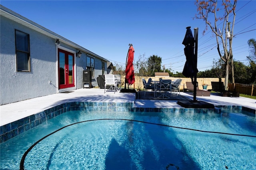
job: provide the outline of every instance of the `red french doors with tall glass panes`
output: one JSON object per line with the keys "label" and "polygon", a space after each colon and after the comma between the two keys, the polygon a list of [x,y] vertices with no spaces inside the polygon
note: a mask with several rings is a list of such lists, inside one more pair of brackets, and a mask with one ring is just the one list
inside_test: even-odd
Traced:
{"label": "red french doors with tall glass panes", "polygon": [[59,89],[74,87],[74,53],[58,49]]}

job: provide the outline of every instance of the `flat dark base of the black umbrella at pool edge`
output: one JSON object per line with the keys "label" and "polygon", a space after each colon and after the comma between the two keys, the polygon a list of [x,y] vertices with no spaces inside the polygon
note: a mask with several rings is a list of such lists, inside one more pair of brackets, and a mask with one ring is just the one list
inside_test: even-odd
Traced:
{"label": "flat dark base of the black umbrella at pool edge", "polygon": [[214,109],[213,104],[207,103],[204,101],[194,102],[192,100],[184,100],[184,101],[178,101],[177,104],[184,108]]}

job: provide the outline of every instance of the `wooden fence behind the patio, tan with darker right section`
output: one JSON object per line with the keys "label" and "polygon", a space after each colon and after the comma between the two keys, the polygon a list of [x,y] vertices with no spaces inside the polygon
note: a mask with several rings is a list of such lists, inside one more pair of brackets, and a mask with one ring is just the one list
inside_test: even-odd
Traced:
{"label": "wooden fence behind the patio, tan with darker right section", "polygon": [[[183,89],[186,89],[186,81],[191,81],[190,78],[179,78],[179,77],[139,77],[135,76],[135,83],[131,85],[129,88],[130,89],[143,89],[143,83],[142,83],[142,78],[144,78],[146,81],[148,81],[149,78],[151,78],[153,81],[154,80],[159,80],[159,78],[162,79],[182,79],[180,83],[180,91]],[[203,89],[202,84],[208,84],[207,89],[212,89],[211,81],[219,81],[219,78],[197,78],[198,82],[198,88],[200,90]],[[225,83],[225,78],[222,78],[221,81]],[[124,82],[124,77],[122,77],[122,82]],[[256,96],[256,87],[253,85],[244,85],[244,84],[239,84],[239,83],[228,83],[228,90],[229,91],[237,91],[241,94],[246,94],[246,95],[252,95]]]}

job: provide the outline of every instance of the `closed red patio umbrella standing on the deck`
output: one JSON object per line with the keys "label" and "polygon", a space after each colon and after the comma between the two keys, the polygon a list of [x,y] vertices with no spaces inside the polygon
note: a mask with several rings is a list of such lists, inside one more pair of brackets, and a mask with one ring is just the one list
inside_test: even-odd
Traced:
{"label": "closed red patio umbrella standing on the deck", "polygon": [[134,76],[134,67],[133,67],[133,58],[134,58],[134,48],[132,47],[132,44],[129,44],[130,48],[128,50],[128,60],[126,62],[126,69],[125,69],[125,81],[129,85],[132,85],[135,82],[135,76]]}

